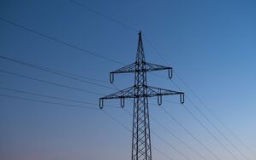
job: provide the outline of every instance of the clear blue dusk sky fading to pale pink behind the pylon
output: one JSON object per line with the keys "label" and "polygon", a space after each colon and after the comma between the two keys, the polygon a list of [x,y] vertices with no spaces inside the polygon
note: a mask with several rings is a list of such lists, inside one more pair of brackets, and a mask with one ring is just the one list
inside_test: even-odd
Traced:
{"label": "clear blue dusk sky fading to pale pink behind the pylon", "polygon": [[[157,75],[148,73],[148,84],[177,91],[181,89],[186,94],[184,106],[177,104],[178,96],[165,96],[163,100],[167,101],[163,101],[160,107],[157,100],[150,100],[151,129],[155,133],[152,134],[152,159],[217,159],[211,152],[223,160],[233,160],[235,157],[241,160],[256,159],[255,1],[76,2],[104,16],[68,0],[0,2],[1,56],[90,78],[86,80],[90,83],[85,83],[0,58],[2,160],[130,159],[131,133],[128,129],[132,129],[132,117],[126,111],[132,112],[133,104],[129,100],[126,100],[125,111],[120,109],[119,100],[104,101],[106,106],[115,106],[104,107],[103,110],[110,116],[99,109],[72,107],[98,108],[98,98],[102,95],[134,85],[134,74],[116,75],[114,85],[108,82],[110,71],[122,67],[120,63],[130,64],[135,60],[138,32],[128,26],[142,31],[147,61],[174,68],[172,80],[164,78],[167,77],[166,71],[158,71]],[[41,82],[24,76],[40,79]],[[69,86],[69,89],[52,83]],[[211,152],[205,150],[170,115]],[[120,123],[128,129],[124,129]]]}

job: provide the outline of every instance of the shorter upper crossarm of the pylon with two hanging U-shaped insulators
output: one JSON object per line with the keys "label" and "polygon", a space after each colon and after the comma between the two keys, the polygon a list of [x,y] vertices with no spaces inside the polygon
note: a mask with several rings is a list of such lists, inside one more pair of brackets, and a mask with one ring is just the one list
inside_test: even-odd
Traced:
{"label": "shorter upper crossarm of the pylon with two hanging U-shaped insulators", "polygon": [[117,73],[134,73],[134,72],[141,72],[141,71],[162,71],[162,70],[167,70],[168,71],[168,76],[169,78],[172,77],[172,67],[169,66],[160,66],[160,65],[156,65],[156,64],[152,64],[152,63],[148,63],[148,62],[141,62],[141,63],[145,63],[145,68],[143,69],[138,69],[138,62],[132,63],[128,66],[123,66],[122,68],[117,69],[116,71],[111,71],[110,72],[110,83],[114,82],[114,74]]}

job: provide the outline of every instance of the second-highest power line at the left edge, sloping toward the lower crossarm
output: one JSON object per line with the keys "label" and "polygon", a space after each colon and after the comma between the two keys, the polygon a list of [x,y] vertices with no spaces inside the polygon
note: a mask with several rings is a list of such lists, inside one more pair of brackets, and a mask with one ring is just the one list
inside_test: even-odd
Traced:
{"label": "second-highest power line at the left edge, sloping toward the lower crossarm", "polygon": [[[108,87],[108,86],[105,86],[105,85],[102,85],[102,84],[92,83],[92,82],[89,82],[87,80],[84,80],[84,79],[81,79],[81,78],[78,78],[78,77],[69,76],[69,73],[67,75],[67,74],[63,73],[63,71],[57,71],[57,70],[53,70],[53,69],[50,69],[50,68],[46,68],[44,66],[34,65],[34,64],[27,63],[27,62],[24,62],[24,61],[21,61],[21,60],[15,60],[15,59],[3,56],[3,55],[0,55],[0,58],[3,59],[3,60],[9,60],[9,61],[18,63],[18,64],[23,65],[23,66],[30,66],[30,67],[33,67],[34,69],[38,69],[38,70],[41,70],[41,71],[46,71],[46,72],[49,72],[49,73],[52,73],[52,74],[56,74],[58,76],[68,77],[69,79],[74,79],[76,81],[80,81],[80,82],[83,82],[83,83],[90,83],[92,85],[104,87],[106,89],[114,89],[114,88],[111,88],[111,87]],[[114,90],[116,90],[116,89],[114,89]]]}

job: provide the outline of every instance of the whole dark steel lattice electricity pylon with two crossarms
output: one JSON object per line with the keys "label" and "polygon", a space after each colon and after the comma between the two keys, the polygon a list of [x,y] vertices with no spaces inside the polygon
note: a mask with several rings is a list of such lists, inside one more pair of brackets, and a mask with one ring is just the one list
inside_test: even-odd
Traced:
{"label": "whole dark steel lattice electricity pylon with two crossarms", "polygon": [[145,60],[141,31],[137,48],[136,61],[116,71],[110,72],[110,83],[114,82],[114,74],[135,73],[134,86],[122,89],[114,94],[99,98],[99,107],[102,109],[104,100],[120,99],[124,106],[125,99],[134,99],[133,138],[132,138],[132,160],[152,160],[150,123],[148,111],[148,97],[158,97],[158,105],[162,104],[163,95],[180,95],[181,103],[184,103],[184,93],[168,89],[159,89],[148,86],[146,83],[147,71],[168,70],[169,78],[172,77],[172,68],[148,63]]}

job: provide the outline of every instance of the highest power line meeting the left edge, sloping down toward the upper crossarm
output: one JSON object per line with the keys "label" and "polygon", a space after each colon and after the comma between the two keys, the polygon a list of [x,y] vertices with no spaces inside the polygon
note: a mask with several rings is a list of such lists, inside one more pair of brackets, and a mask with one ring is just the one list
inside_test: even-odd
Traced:
{"label": "highest power line meeting the left edge, sloping down toward the upper crossarm", "polygon": [[42,33],[42,32],[35,31],[35,30],[30,29],[30,28],[28,28],[28,27],[26,27],[26,26],[21,26],[21,25],[19,25],[18,23],[15,23],[15,22],[10,21],[10,20],[6,20],[6,19],[4,19],[3,17],[0,17],[0,20],[4,21],[4,22],[6,22],[6,23],[8,23],[8,24],[10,24],[10,25],[12,25],[12,26],[17,26],[17,27],[19,27],[19,28],[22,28],[22,29],[24,29],[24,30],[26,30],[26,31],[32,32],[32,33],[34,33],[34,34],[36,34],[36,35],[39,35],[39,36],[41,36],[41,37],[45,37],[45,38],[47,38],[47,39],[50,39],[51,41],[55,41],[55,42],[57,42],[57,43],[61,43],[61,44],[65,45],[65,46],[68,46],[68,47],[73,48],[73,49],[78,49],[78,50],[82,51],[83,53],[91,54],[91,55],[94,55],[94,56],[96,56],[96,57],[98,57],[98,58],[101,58],[101,59],[103,59],[103,60],[109,60],[109,61],[112,61],[112,62],[114,62],[114,63],[116,63],[116,64],[119,64],[119,65],[124,65],[123,63],[120,63],[120,62],[118,62],[118,61],[116,61],[116,60],[113,60],[113,59],[110,59],[110,58],[108,58],[108,57],[105,57],[105,56],[103,56],[103,55],[95,54],[95,53],[93,53],[92,51],[89,51],[89,50],[87,50],[87,49],[83,49],[83,48],[77,47],[77,46],[75,46],[74,44],[71,44],[71,43],[66,43],[66,42],[64,42],[64,41],[62,41],[62,40],[57,39],[56,37],[48,36],[48,35],[46,35],[46,34],[44,34],[44,33]]}

